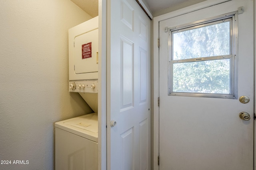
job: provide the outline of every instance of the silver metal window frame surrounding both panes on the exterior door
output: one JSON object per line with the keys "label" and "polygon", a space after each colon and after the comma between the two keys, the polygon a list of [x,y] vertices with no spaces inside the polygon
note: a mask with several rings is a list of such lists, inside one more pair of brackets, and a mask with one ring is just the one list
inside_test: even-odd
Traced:
{"label": "silver metal window frame surrounding both panes on the exterior door", "polygon": [[[192,96],[192,97],[208,97],[208,98],[228,98],[237,99],[237,62],[238,62],[238,12],[232,12],[209,18],[206,20],[200,20],[176,27],[168,28],[168,95],[169,96]],[[182,30],[190,30],[208,25],[214,25],[216,23],[222,23],[223,20],[230,21],[230,54],[212,57],[200,57],[192,59],[179,59],[173,60],[173,32]],[[229,94],[216,94],[216,93],[198,93],[198,92],[173,92],[173,64],[185,63],[185,62],[197,62],[208,60],[230,59],[230,92]]]}

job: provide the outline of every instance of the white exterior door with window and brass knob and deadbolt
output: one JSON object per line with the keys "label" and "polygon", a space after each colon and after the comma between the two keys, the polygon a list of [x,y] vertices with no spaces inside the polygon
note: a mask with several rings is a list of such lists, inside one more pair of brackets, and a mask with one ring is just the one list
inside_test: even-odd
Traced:
{"label": "white exterior door with window and brass knob and deadbolt", "polygon": [[159,22],[160,170],[252,170],[254,3]]}

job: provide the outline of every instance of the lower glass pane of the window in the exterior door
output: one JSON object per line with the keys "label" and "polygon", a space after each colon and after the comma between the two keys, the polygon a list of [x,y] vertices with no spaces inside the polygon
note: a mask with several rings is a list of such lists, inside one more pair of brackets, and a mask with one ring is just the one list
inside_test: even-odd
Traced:
{"label": "lower glass pane of the window in the exterior door", "polygon": [[230,59],[173,63],[173,92],[230,93]]}

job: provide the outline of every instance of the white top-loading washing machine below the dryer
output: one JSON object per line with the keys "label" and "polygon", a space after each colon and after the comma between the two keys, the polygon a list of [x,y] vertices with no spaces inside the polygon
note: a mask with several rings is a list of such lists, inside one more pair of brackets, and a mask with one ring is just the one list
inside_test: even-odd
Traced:
{"label": "white top-loading washing machine below the dryer", "polygon": [[98,113],[55,123],[55,169],[98,170]]}

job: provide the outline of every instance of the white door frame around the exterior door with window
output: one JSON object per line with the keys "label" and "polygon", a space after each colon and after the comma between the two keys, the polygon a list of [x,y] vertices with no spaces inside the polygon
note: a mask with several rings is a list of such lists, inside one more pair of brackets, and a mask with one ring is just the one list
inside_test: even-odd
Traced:
{"label": "white door frame around the exterior door with window", "polygon": [[[163,14],[161,16],[157,16],[153,18],[153,169],[159,170],[158,166],[158,156],[159,156],[159,107],[158,107],[158,97],[159,97],[159,48],[158,48],[158,38],[159,38],[159,22],[162,20],[166,20],[169,18],[174,18],[176,16],[180,16],[186,13],[194,12],[196,10],[200,10],[203,8],[207,8],[212,5],[220,4],[222,2],[228,2],[230,0],[206,0],[204,2],[200,2],[198,4],[194,4],[192,6],[188,6],[186,8],[182,8],[180,10],[176,10],[167,14]],[[254,0],[254,35],[256,35],[256,0]],[[254,36],[254,84],[256,83],[256,37]],[[256,87],[254,86],[254,98]],[[254,106],[256,102],[254,100]],[[254,107],[254,113],[255,113]],[[256,146],[255,141],[256,136],[256,128],[255,128],[255,120],[254,120],[254,146]],[[256,169],[256,149],[254,147],[254,169]]]}

